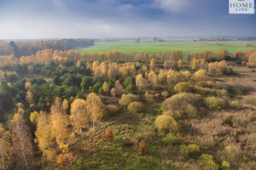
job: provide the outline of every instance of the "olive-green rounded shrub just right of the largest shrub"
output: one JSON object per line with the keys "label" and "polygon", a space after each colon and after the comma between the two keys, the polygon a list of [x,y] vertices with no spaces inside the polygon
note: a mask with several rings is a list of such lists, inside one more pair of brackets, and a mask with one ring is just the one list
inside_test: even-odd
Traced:
{"label": "olive-green rounded shrub just right of the largest shrub", "polygon": [[216,97],[207,97],[206,99],[207,108],[212,111],[217,111],[224,109],[227,104],[224,99],[216,98]]}

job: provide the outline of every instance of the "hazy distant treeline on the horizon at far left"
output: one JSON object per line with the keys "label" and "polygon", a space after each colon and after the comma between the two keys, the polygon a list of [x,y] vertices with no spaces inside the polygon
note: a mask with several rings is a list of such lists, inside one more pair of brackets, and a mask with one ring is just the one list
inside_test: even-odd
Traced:
{"label": "hazy distant treeline on the horizon at far left", "polygon": [[14,54],[16,58],[36,54],[42,49],[68,50],[76,47],[94,45],[92,39],[62,39],[53,41],[4,42],[0,41],[0,55]]}

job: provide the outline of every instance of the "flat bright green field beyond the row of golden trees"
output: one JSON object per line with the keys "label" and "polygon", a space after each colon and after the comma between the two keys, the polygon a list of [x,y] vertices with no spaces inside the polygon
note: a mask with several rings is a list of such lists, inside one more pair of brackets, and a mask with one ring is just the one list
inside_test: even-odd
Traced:
{"label": "flat bright green field beyond the row of golden trees", "polygon": [[[201,51],[204,49],[212,49],[212,51],[218,51],[219,48],[228,49],[230,52],[237,50],[245,51],[248,48],[256,47],[246,47],[247,43],[252,42],[239,42],[230,41],[223,42],[223,46],[215,45],[215,42],[157,42],[157,43],[134,43],[134,42],[95,42],[95,46],[90,48],[79,48],[75,49],[79,52],[97,52],[104,53],[107,51],[113,51],[114,49],[121,51],[125,54],[127,53],[137,53],[137,52],[148,52],[148,53],[158,53],[158,52],[171,52],[174,49],[183,50],[184,54],[189,54],[191,51]],[[253,42],[256,45],[256,42]]]}

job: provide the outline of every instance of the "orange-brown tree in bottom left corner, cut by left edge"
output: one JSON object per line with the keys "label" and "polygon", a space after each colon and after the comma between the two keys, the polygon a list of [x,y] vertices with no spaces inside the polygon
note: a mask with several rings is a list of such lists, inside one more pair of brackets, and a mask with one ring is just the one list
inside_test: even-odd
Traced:
{"label": "orange-brown tree in bottom left corner, cut by left edge", "polygon": [[12,156],[11,138],[8,131],[4,131],[3,126],[0,125],[0,167],[6,170],[9,166]]}

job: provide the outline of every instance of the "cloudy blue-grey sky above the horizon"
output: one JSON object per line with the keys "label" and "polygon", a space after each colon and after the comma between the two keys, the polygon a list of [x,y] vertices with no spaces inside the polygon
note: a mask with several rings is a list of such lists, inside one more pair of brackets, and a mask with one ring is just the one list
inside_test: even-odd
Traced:
{"label": "cloudy blue-grey sky above the horizon", "polygon": [[0,0],[0,39],[256,37],[229,0]]}

